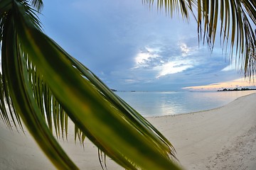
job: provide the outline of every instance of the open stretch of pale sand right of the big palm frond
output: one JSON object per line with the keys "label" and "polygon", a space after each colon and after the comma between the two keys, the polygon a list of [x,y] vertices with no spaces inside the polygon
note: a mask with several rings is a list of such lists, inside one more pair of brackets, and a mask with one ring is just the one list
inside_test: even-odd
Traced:
{"label": "open stretch of pale sand right of the big palm frond", "polygon": [[254,170],[255,100],[253,93],[207,111],[147,119],[174,145],[183,169]]}

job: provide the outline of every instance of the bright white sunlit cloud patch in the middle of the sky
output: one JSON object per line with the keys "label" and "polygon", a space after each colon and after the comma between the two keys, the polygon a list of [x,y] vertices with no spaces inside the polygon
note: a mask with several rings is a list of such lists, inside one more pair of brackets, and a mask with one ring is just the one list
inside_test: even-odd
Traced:
{"label": "bright white sunlit cloud patch in the middle of the sky", "polygon": [[154,72],[154,78],[159,79],[169,74],[183,72],[196,65],[196,62],[189,57],[195,51],[193,47],[188,47],[184,42],[172,47],[176,50],[167,54],[161,49],[161,45],[159,47],[143,47],[134,57],[133,69],[151,70]]}

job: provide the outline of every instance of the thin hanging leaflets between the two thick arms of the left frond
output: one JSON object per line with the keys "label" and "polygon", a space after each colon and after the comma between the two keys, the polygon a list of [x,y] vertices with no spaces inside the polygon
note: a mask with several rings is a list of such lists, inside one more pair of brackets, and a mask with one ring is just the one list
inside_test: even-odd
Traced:
{"label": "thin hanging leaflets between the two thick arms of the left frond", "polygon": [[44,121],[47,123],[50,131],[55,130],[56,137],[67,137],[68,135],[68,116],[56,100],[53,93],[48,88],[43,75],[39,74],[36,66],[24,56],[26,60],[26,69],[28,70],[28,82],[31,86],[33,98],[38,108],[41,110]]}

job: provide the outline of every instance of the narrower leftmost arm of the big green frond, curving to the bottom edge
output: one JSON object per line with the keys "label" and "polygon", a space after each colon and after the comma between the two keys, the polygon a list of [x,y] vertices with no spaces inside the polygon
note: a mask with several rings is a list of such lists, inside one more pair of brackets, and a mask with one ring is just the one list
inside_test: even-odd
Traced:
{"label": "narrower leftmost arm of the big green frond, curving to the bottom edge", "polygon": [[15,12],[9,11],[7,18],[1,50],[2,72],[6,76],[3,82],[6,84],[5,86],[8,86],[12,104],[38,145],[50,157],[55,166],[60,169],[78,169],[61,149],[40,114],[41,111],[33,98],[27,78],[26,60],[23,59],[26,53],[21,50],[13,24],[15,23]]}

